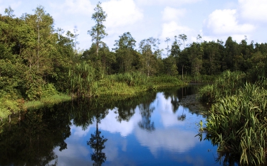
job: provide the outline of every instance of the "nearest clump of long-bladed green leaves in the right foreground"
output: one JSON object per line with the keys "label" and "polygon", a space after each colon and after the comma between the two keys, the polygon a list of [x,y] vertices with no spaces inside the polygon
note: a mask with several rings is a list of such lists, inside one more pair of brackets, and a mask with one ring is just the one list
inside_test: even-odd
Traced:
{"label": "nearest clump of long-bladed green leaves in the right foreground", "polygon": [[206,131],[219,153],[240,154],[241,165],[266,163],[266,89],[245,84],[235,95],[221,97],[211,107]]}

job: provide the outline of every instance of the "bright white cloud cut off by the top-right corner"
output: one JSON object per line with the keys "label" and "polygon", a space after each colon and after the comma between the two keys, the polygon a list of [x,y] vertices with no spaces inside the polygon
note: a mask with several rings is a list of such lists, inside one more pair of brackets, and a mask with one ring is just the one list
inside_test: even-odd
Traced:
{"label": "bright white cloud cut off by the top-right corner", "polygon": [[267,22],[266,0],[239,0],[239,11],[246,21]]}

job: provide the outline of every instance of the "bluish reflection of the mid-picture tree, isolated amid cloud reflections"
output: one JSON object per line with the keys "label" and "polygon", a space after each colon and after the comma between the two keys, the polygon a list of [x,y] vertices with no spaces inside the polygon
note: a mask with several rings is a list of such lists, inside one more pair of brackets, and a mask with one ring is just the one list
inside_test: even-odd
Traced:
{"label": "bluish reflection of the mid-picture tree, isolated amid cloud reflections", "polygon": [[140,126],[140,128],[145,129],[146,131],[154,131],[154,122],[151,122],[150,118],[152,112],[155,110],[155,107],[150,108],[150,103],[140,104],[138,107],[142,116],[142,120],[138,123],[138,125]]}

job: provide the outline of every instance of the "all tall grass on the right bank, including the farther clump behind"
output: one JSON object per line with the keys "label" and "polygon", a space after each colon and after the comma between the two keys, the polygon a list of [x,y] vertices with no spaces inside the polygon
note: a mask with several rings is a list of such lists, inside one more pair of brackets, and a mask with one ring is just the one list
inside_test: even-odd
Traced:
{"label": "all tall grass on the right bank, including the farther clump behind", "polygon": [[206,119],[206,138],[219,145],[219,154],[239,156],[240,165],[266,165],[266,80],[243,82],[243,73],[226,72],[201,90],[201,99],[214,103]]}

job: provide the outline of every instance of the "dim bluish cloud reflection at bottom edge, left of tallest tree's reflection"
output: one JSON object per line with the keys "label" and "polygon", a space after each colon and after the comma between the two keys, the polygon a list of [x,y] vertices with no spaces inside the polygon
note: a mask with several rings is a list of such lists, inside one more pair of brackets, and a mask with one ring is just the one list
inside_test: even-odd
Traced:
{"label": "dim bluish cloud reflection at bottom edge, left of tallest tree's reflection", "polygon": [[90,151],[86,146],[68,143],[68,149],[59,151],[58,147],[54,152],[58,155],[58,166],[93,165]]}

